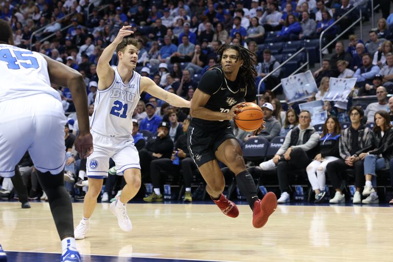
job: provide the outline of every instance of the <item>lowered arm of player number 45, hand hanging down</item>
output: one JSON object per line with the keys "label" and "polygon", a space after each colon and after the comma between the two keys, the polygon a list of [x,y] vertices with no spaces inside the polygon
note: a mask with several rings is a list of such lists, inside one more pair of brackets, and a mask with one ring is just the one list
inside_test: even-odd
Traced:
{"label": "lowered arm of player number 45, hand hanging down", "polygon": [[[41,54],[42,55],[42,54]],[[75,149],[81,158],[85,158],[93,152],[93,138],[90,134],[89,115],[87,110],[86,84],[82,75],[45,55],[42,55],[48,63],[48,73],[51,83],[58,86],[68,87],[77,111],[79,135],[75,140]]]}

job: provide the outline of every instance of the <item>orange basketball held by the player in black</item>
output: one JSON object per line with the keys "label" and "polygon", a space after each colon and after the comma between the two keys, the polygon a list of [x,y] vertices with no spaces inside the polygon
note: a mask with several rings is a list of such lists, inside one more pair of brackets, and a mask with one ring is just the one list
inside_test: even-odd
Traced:
{"label": "orange basketball held by the player in black", "polygon": [[246,102],[241,109],[243,111],[237,114],[238,118],[235,118],[235,123],[240,129],[250,132],[262,125],[263,111],[257,104]]}

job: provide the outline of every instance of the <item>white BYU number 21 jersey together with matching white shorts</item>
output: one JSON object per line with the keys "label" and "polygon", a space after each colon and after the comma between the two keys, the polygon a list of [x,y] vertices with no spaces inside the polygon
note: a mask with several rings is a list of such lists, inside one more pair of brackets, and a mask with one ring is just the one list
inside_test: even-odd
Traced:
{"label": "white BYU number 21 jersey together with matching white shorts", "polygon": [[140,169],[139,154],[132,137],[132,114],[140,99],[140,74],[133,71],[129,83],[123,83],[117,67],[107,89],[97,90],[90,127],[93,153],[87,157],[86,174],[91,178],[108,176],[109,158],[117,174],[129,168]]}

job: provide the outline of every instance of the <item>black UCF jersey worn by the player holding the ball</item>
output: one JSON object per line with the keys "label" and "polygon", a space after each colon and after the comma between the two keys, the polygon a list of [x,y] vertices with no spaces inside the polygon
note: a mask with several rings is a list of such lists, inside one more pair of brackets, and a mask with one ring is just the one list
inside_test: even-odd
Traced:
{"label": "black UCF jersey worn by the player holding the ball", "polygon": [[[197,88],[210,95],[204,107],[215,112],[227,113],[240,102],[253,102],[256,99],[255,88],[247,88],[239,75],[235,81],[226,79],[221,67],[204,73]],[[204,120],[193,117],[191,125],[214,131],[227,128],[229,120]]]}

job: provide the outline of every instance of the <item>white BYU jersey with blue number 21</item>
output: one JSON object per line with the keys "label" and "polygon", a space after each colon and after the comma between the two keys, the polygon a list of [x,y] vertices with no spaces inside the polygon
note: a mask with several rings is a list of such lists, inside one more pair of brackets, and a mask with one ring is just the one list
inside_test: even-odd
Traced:
{"label": "white BYU jersey with blue number 21", "polygon": [[128,84],[124,84],[117,66],[114,79],[107,89],[97,90],[90,127],[94,132],[111,137],[132,139],[132,114],[140,99],[140,74],[133,71]]}

